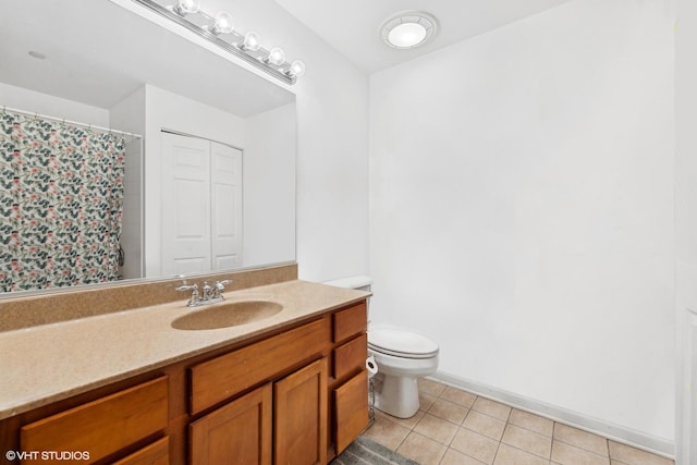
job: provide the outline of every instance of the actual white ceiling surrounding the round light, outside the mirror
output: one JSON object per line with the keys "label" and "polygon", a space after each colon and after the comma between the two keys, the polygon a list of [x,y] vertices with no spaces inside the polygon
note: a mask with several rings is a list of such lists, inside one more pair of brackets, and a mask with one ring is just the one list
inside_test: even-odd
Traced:
{"label": "actual white ceiling surrounding the round light, outside the mirror", "polygon": [[[367,72],[376,72],[501,27],[570,0],[276,0],[315,34]],[[380,26],[402,11],[426,11],[439,22],[433,40],[398,50]]]}

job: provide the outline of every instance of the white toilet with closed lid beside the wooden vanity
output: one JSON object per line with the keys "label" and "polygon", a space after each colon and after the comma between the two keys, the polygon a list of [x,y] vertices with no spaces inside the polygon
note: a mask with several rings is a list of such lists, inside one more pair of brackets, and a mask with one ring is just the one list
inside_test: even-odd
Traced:
{"label": "white toilet with closed lid beside the wooden vanity", "polygon": [[[325,284],[370,291],[372,280],[352,277]],[[378,365],[376,408],[399,418],[414,416],[419,406],[417,380],[438,369],[438,344],[402,328],[368,326],[368,355]]]}

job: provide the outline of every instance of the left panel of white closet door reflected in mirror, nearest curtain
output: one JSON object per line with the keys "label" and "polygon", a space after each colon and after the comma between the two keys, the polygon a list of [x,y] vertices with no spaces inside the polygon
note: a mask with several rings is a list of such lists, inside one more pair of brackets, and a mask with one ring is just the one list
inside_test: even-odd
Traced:
{"label": "left panel of white closet door reflected in mirror, nearest curtain", "polygon": [[210,143],[162,134],[162,273],[210,270]]}

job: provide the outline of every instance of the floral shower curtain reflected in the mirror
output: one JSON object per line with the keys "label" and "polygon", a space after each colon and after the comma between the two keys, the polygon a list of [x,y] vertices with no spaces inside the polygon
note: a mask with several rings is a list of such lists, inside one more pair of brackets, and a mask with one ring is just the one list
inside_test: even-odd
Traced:
{"label": "floral shower curtain reflected in the mirror", "polygon": [[119,279],[125,140],[0,113],[0,291]]}

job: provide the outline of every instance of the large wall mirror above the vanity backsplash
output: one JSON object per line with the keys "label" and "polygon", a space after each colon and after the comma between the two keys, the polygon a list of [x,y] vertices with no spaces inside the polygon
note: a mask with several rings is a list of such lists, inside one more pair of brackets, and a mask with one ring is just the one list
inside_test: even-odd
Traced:
{"label": "large wall mirror above the vanity backsplash", "polygon": [[[125,3],[23,0],[0,16],[0,298],[295,260],[295,95]],[[121,142],[107,140],[111,135]],[[51,151],[69,139],[77,147],[68,152],[99,157],[98,144],[123,144],[122,171],[112,175],[108,163],[87,181],[96,162],[75,159],[69,172]],[[48,158],[33,158],[41,150]],[[19,170],[30,163],[25,179]],[[102,227],[82,229],[97,225],[86,209],[100,218],[117,210],[105,200],[108,175],[122,189],[117,241]],[[88,207],[76,204],[95,179],[101,195]],[[58,210],[71,215],[59,218]],[[66,237],[59,252],[41,248],[58,236]],[[117,260],[115,276],[105,278],[100,260]],[[60,283],[41,276],[80,267],[98,278],[71,274]]]}

